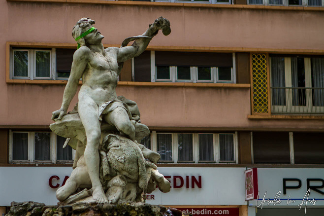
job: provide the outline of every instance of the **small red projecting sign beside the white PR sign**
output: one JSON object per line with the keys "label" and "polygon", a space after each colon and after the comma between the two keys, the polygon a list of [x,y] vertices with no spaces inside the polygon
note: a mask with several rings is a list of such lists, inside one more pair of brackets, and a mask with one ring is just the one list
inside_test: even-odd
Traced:
{"label": "small red projecting sign beside the white PR sign", "polygon": [[258,172],[252,168],[244,172],[245,176],[245,200],[257,199],[258,196]]}

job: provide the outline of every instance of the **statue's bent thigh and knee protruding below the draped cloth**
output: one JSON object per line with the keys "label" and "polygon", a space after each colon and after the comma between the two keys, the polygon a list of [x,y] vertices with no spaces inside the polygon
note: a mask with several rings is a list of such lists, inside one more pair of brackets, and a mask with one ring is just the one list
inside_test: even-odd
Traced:
{"label": "statue's bent thigh and knee protruding below the draped cloth", "polygon": [[104,115],[103,118],[108,124],[115,126],[119,132],[129,137],[130,140],[135,140],[135,127],[130,122],[130,117],[124,108],[115,108]]}

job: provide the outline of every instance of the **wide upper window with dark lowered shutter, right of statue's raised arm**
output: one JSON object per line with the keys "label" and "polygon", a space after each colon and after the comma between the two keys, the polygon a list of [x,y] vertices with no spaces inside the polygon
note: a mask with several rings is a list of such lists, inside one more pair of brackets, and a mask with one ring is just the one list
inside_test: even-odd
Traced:
{"label": "wide upper window with dark lowered shutter, right of statue's raised arm", "polygon": [[145,51],[132,63],[139,82],[236,82],[235,53]]}

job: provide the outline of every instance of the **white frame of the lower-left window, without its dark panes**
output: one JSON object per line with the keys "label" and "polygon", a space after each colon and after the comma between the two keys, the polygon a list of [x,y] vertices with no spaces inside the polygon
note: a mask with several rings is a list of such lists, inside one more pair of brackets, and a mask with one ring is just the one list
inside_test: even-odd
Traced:
{"label": "white frame of the lower-left window, without its dark panes", "polygon": [[[28,160],[13,160],[13,133],[28,133]],[[50,160],[35,160],[34,159],[34,137],[35,133],[50,133]],[[60,163],[73,163],[75,150],[72,148],[72,160],[60,160],[57,161],[57,136],[54,132],[50,131],[23,131],[9,130],[9,164],[25,163],[25,164],[60,164]]]}

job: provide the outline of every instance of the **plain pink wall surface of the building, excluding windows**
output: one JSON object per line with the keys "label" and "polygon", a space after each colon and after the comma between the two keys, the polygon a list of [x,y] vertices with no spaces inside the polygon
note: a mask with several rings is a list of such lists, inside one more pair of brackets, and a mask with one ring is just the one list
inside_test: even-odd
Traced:
{"label": "plain pink wall surface of the building, excluding windows", "polygon": [[[74,43],[71,29],[81,17],[97,21],[103,43],[120,44],[142,34],[157,17],[172,33],[150,45],[324,50],[323,12],[232,8],[31,3],[0,0],[0,126],[49,125],[62,103],[64,85],[7,84],[5,42]],[[314,129],[322,121],[249,120],[249,88],[119,86],[118,95],[138,103],[150,127]],[[76,97],[70,109],[76,103]]]}

